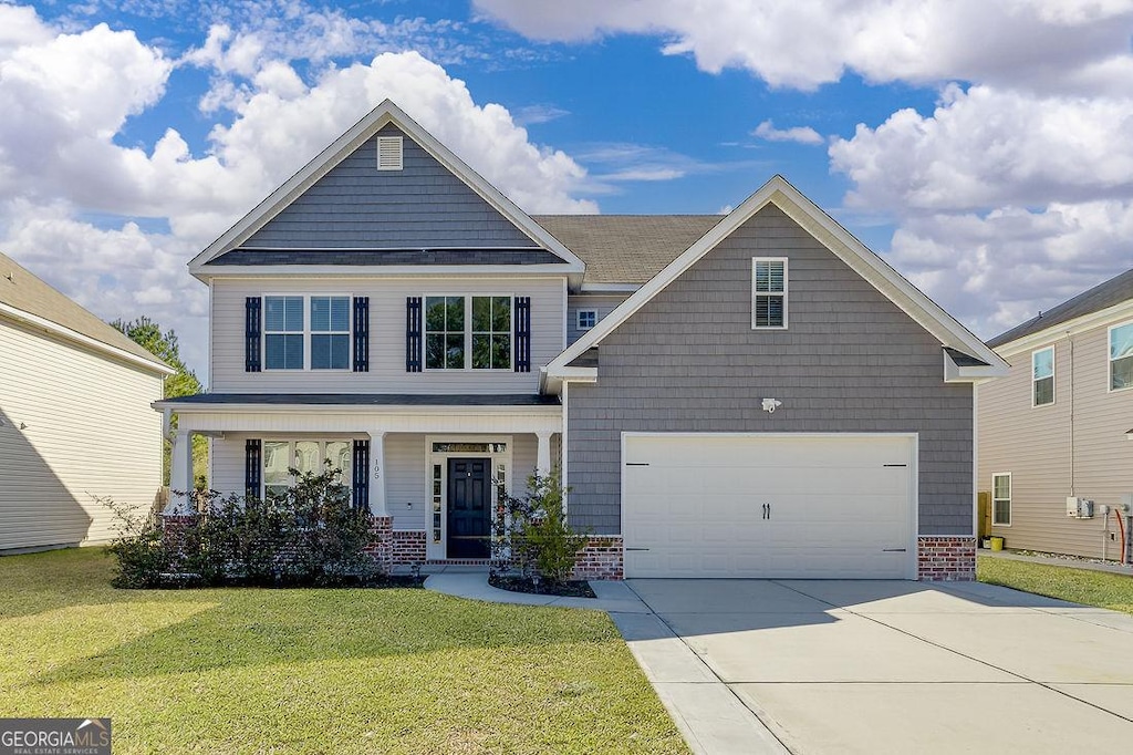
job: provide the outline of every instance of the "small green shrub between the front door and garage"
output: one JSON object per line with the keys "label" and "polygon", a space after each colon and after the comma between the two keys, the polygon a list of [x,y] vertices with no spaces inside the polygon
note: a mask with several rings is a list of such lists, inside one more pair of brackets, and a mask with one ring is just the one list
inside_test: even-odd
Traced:
{"label": "small green shrub between the front door and garage", "polygon": [[576,532],[563,510],[559,469],[527,478],[527,495],[505,497],[496,511],[493,559],[510,561],[525,576],[533,570],[548,582],[566,582],[589,532]]}

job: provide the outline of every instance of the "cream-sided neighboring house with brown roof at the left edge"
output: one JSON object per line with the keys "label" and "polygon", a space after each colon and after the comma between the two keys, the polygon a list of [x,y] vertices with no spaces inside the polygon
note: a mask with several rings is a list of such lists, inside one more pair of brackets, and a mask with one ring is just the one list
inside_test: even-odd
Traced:
{"label": "cream-sided neighboring house with brown roof at the left edge", "polygon": [[0,254],[0,552],[105,542],[94,497],[148,510],[173,371]]}

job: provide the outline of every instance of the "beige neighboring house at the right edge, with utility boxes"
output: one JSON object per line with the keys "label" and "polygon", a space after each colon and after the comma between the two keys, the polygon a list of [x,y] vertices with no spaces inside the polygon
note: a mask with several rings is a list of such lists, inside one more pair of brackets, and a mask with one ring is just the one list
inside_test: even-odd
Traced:
{"label": "beige neighboring house at the right edge, with utility boxes", "polygon": [[990,533],[1007,548],[1121,559],[1113,509],[1126,507],[1127,552],[1133,540],[1133,270],[989,343],[1011,363],[978,397]]}

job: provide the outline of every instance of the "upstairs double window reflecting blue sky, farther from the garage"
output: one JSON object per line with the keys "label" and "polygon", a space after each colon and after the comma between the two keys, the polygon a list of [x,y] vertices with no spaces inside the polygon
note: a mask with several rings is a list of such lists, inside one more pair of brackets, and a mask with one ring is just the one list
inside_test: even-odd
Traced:
{"label": "upstairs double window reflecting blue sky, farther from the garage", "polygon": [[267,370],[349,370],[350,297],[265,296]]}

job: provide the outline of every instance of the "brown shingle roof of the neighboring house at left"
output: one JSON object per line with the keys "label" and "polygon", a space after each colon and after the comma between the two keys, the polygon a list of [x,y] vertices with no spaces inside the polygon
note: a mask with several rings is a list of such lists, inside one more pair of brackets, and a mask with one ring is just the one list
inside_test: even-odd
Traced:
{"label": "brown shingle roof of the neighboring house at left", "polygon": [[154,364],[164,364],[3,253],[0,253],[0,303]]}

